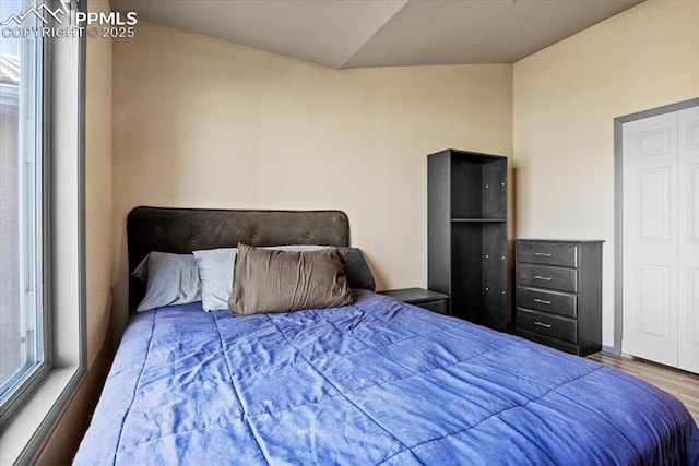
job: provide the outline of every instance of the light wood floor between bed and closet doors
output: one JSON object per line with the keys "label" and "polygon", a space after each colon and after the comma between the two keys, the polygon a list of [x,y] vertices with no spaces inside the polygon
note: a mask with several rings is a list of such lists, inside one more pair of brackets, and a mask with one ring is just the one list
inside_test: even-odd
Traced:
{"label": "light wood floor between bed and closet doors", "polygon": [[596,353],[589,358],[642,379],[675,395],[685,404],[699,425],[699,375],[643,359],[618,357],[607,353]]}

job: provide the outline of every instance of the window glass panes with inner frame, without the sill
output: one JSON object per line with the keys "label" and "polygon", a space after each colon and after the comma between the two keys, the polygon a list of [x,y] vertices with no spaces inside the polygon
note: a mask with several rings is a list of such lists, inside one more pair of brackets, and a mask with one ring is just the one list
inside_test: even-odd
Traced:
{"label": "window glass panes with inner frame, without the sill", "polygon": [[[4,10],[5,4],[3,4]],[[22,14],[24,2],[7,3]],[[38,17],[24,20],[37,27]],[[27,26],[27,24],[23,24]],[[0,38],[0,406],[47,367],[40,37]]]}

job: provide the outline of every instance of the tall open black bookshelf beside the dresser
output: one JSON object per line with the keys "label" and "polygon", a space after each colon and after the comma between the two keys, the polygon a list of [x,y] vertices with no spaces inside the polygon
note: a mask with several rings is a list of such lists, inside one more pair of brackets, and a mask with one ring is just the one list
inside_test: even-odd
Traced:
{"label": "tall open black bookshelf beside the dresser", "polygon": [[507,327],[507,157],[446,150],[427,156],[428,288],[451,315]]}

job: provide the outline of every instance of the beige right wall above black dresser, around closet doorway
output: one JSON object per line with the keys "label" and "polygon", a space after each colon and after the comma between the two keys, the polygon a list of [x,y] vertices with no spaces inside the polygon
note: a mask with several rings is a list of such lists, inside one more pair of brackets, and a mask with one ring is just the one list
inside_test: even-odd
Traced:
{"label": "beige right wall above black dresser, around closet doorway", "polygon": [[699,95],[699,1],[648,0],[514,64],[519,238],[603,239],[614,345],[615,117]]}

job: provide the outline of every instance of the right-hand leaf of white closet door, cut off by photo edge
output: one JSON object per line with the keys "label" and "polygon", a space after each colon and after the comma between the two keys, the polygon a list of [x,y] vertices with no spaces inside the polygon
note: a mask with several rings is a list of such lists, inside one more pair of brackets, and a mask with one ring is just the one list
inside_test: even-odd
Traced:
{"label": "right-hand leaf of white closet door, cut off by photo edge", "polygon": [[699,107],[678,112],[677,367],[699,373]]}

